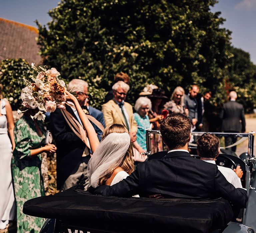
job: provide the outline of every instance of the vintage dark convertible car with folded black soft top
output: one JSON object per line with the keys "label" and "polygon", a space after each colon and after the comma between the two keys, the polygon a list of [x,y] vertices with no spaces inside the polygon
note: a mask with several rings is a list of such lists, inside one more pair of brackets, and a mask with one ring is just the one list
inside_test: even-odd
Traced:
{"label": "vintage dark convertible car with folded black soft top", "polygon": [[[203,133],[203,132],[202,132]],[[202,133],[193,133],[194,136]],[[167,151],[152,138],[159,131],[147,131],[148,159],[163,157]],[[214,133],[227,136],[230,133]],[[211,232],[253,233],[256,229],[255,164],[253,156],[254,133],[232,134],[248,139],[248,151],[240,158],[222,150],[216,163],[243,170],[242,185],[248,192],[245,209],[234,213],[228,201],[219,198],[209,201],[185,199],[120,198],[92,195],[83,189],[83,182],[54,196],[37,197],[25,202],[23,212],[47,218],[41,233],[108,233],[108,232]],[[159,140],[158,140],[159,141]],[[160,150],[151,154],[153,149]],[[163,150],[163,151],[161,151]],[[195,145],[191,154],[197,157]]]}

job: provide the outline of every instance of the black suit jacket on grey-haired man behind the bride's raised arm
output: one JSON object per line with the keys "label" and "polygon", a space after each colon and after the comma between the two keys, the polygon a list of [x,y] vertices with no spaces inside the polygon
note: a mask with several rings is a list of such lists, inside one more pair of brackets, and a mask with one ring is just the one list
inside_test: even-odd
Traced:
{"label": "black suit jacket on grey-haired man behind the bride's raised arm", "polygon": [[[67,105],[66,110],[77,119],[73,110]],[[86,145],[72,131],[59,109],[51,113],[50,124],[57,146],[57,188],[60,189],[81,159]]]}

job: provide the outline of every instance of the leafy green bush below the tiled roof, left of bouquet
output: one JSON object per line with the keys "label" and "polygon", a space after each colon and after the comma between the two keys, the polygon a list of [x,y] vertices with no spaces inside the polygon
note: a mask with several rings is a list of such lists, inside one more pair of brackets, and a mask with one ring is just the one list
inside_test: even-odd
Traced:
{"label": "leafy green bush below the tiled roof, left of bouquet", "polygon": [[17,110],[21,105],[21,89],[25,87],[29,64],[24,59],[5,59],[0,62],[0,81],[4,86],[3,96]]}

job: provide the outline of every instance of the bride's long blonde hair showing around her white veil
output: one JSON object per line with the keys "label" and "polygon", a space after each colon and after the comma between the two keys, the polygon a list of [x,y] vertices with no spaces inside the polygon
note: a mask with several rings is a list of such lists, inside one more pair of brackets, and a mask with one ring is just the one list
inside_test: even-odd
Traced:
{"label": "bride's long blonde hair showing around her white veil", "polygon": [[[125,128],[121,124],[110,124],[108,125],[102,135],[102,140],[104,140],[104,137],[106,137],[110,133],[129,133],[127,128]],[[134,163],[132,158],[133,152],[132,152],[132,142],[130,143],[130,146],[125,153],[123,160],[121,161],[120,165],[118,167],[121,167],[125,172],[127,172],[129,175],[134,171]],[[99,185],[102,185],[106,182],[108,178],[112,175],[114,170],[110,171],[108,174],[102,176],[99,179]]]}

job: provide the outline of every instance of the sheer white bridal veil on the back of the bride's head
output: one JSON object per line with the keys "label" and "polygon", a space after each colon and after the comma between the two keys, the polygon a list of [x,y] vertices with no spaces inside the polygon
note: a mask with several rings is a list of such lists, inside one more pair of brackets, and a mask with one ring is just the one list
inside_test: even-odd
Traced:
{"label": "sheer white bridal veil on the back of the bride's head", "polygon": [[110,133],[102,139],[88,163],[89,186],[97,187],[100,177],[120,165],[130,142],[128,133]]}

